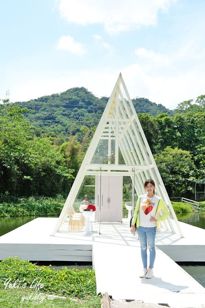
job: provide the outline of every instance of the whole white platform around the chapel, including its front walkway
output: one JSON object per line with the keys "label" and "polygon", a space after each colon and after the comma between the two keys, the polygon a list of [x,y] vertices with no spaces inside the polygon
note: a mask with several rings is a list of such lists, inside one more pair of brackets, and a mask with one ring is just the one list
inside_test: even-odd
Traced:
{"label": "whole white platform around the chapel, including its front walkway", "polygon": [[154,277],[141,279],[140,244],[128,223],[103,223],[101,235],[83,237],[76,232],[51,237],[56,221],[37,218],[0,237],[0,259],[93,261],[97,293],[107,291],[113,299],[138,299],[172,308],[205,307],[205,289],[171,260],[205,261],[205,230],[180,223],[184,238],[157,233]]}

